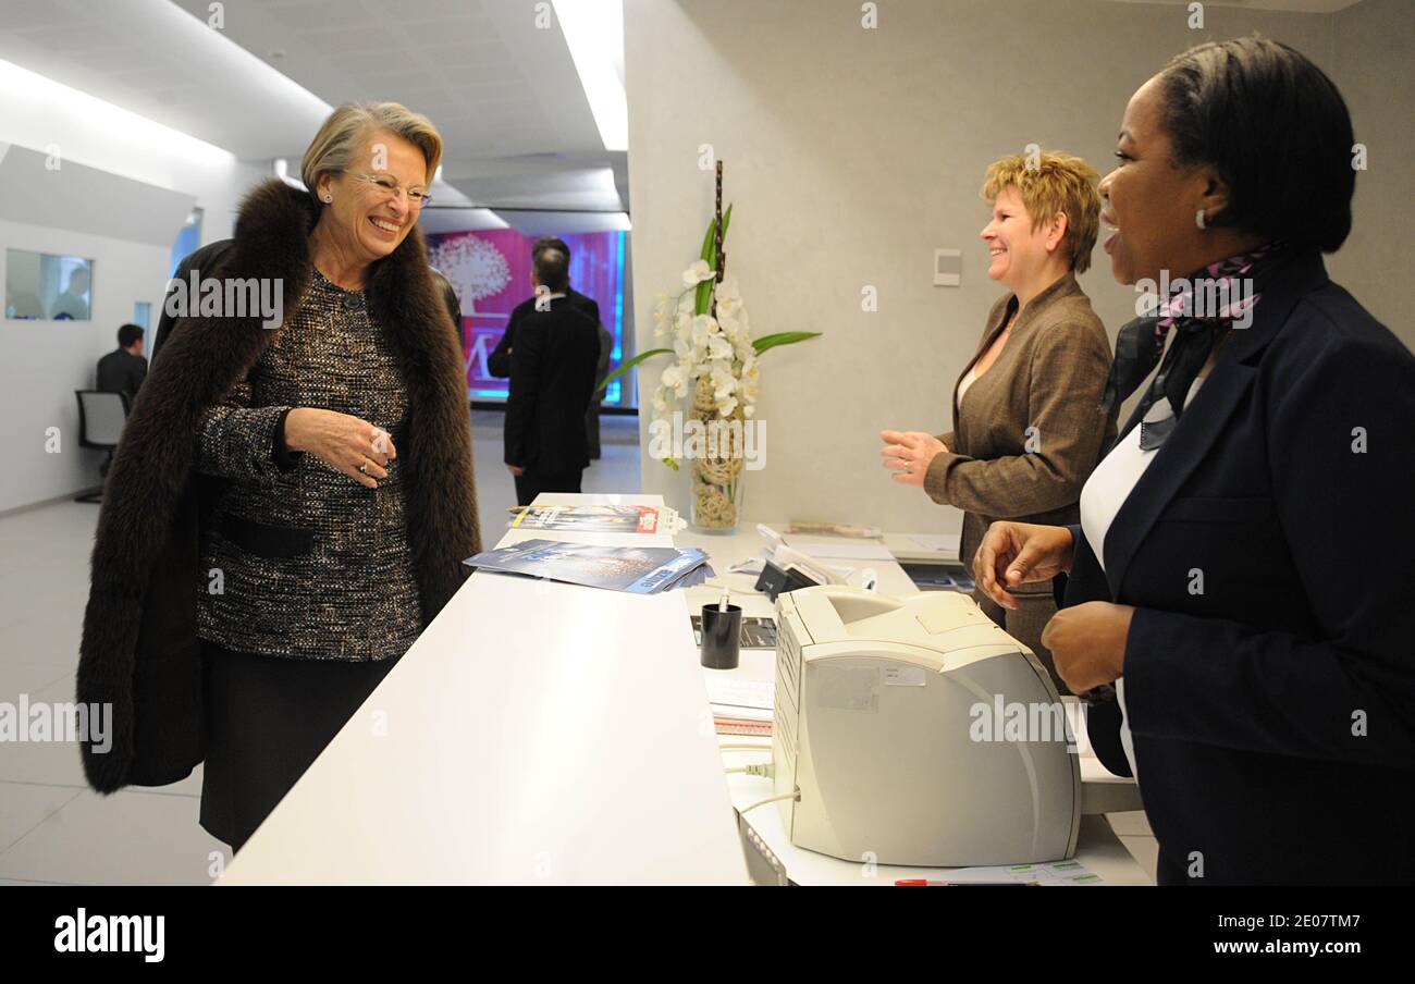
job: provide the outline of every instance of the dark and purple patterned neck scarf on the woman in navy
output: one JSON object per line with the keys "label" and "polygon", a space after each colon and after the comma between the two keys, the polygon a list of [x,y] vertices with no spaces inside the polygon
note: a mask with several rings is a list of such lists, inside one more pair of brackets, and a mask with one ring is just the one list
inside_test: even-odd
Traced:
{"label": "dark and purple patterned neck scarf on the woman in navy", "polygon": [[[1208,361],[1214,344],[1235,320],[1251,317],[1259,297],[1251,285],[1282,252],[1282,242],[1269,242],[1252,252],[1210,263],[1189,278],[1174,280],[1155,311],[1121,328],[1115,338],[1115,361],[1101,396],[1102,413],[1109,413],[1135,392],[1155,370],[1160,355],[1165,357],[1139,406],[1143,450],[1159,447],[1173,433],[1184,412],[1189,389]],[[1247,324],[1251,321],[1245,321]],[[1170,328],[1174,328],[1174,341],[1166,351],[1165,338]],[[1160,396],[1169,399],[1173,415],[1145,421],[1146,412]]]}

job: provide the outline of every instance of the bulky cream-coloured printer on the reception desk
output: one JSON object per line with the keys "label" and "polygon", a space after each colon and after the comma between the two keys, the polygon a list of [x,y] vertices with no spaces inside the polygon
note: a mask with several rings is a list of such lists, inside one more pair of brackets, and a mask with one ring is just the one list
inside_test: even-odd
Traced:
{"label": "bulky cream-coloured printer on the reception desk", "polygon": [[777,597],[777,627],[773,779],[792,844],[938,868],[1075,852],[1061,698],[971,597],[802,588]]}

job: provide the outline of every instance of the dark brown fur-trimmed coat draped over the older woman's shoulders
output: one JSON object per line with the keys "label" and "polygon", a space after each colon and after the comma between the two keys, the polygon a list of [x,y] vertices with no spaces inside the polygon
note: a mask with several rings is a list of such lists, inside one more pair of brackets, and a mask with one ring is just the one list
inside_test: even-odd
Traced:
{"label": "dark brown fur-trimmed coat draped over the older woman's shoulders", "polygon": [[[235,238],[202,248],[178,278],[259,278],[283,285],[286,320],[310,286],[314,200],[280,181],[256,185]],[[423,624],[461,586],[481,549],[471,419],[446,282],[413,228],[368,276],[369,310],[389,334],[408,394],[408,538]],[[78,701],[109,705],[108,748],[82,745],[93,789],[177,782],[202,760],[198,538],[221,479],[194,463],[204,411],[250,372],[270,338],[252,317],[167,317],[103,490],[83,613]],[[338,408],[331,408],[338,409]]]}

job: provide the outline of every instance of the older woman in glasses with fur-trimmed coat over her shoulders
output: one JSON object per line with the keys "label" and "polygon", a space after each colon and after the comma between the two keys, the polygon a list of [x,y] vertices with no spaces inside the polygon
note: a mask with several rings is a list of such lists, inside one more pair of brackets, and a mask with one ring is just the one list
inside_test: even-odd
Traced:
{"label": "older woman in glasses with fur-trimmed coat over her shoulders", "polygon": [[235,848],[480,549],[461,350],[415,228],[440,157],[398,103],[335,109],[308,191],[258,185],[178,272],[282,290],[283,324],[168,310],[108,479],[78,682],[115,735],[85,770],[112,791],[205,759],[201,824]]}

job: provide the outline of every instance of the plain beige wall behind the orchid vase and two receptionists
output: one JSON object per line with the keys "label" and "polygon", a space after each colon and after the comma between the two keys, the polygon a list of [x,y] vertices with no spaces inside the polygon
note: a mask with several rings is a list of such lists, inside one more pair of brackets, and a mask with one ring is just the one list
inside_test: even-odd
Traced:
{"label": "plain beige wall behind the orchid vase and two receptionists", "polygon": [[[640,347],[654,341],[654,297],[678,283],[710,217],[703,143],[726,164],[736,204],[729,263],[754,333],[825,333],[763,358],[767,466],[747,477],[749,521],[958,527],[955,510],[889,480],[877,430],[951,428],[948,394],[1000,293],[978,239],[989,161],[1036,142],[1105,173],[1135,88],[1206,40],[1261,30],[1343,84],[1333,18],[1319,14],[1206,4],[1206,30],[1194,31],[1184,6],[890,0],[879,4],[879,27],[863,30],[855,0],[624,7]],[[1390,31],[1392,20],[1370,31]],[[1381,71],[1365,69],[1373,82]],[[1357,106],[1357,116],[1384,132],[1394,120],[1378,106]],[[961,287],[931,285],[935,246],[964,251]],[[1385,256],[1378,269],[1408,268],[1408,248],[1398,255],[1402,263]],[[1095,256],[1081,283],[1114,337],[1133,317],[1133,294]],[[866,285],[879,292],[876,313],[860,309]],[[1373,309],[1395,310],[1394,285],[1367,286]],[[645,371],[645,387],[657,371]],[[645,413],[645,449],[647,423]],[[686,505],[686,470],[645,453],[642,473],[644,491]]]}

